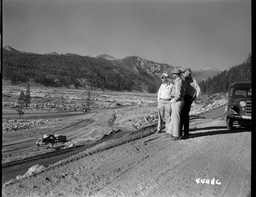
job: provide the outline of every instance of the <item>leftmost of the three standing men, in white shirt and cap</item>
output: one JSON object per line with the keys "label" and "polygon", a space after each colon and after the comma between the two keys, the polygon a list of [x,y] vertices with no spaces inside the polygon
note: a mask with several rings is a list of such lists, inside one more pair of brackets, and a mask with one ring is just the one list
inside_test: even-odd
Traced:
{"label": "leftmost of the three standing men, in white shirt and cap", "polygon": [[170,83],[170,77],[167,73],[163,73],[161,76],[162,84],[158,90],[157,101],[158,101],[158,125],[156,133],[161,133],[163,129],[163,119],[165,116],[165,130],[167,130],[170,122],[170,115],[172,111],[170,109],[170,93],[172,93],[173,84]]}

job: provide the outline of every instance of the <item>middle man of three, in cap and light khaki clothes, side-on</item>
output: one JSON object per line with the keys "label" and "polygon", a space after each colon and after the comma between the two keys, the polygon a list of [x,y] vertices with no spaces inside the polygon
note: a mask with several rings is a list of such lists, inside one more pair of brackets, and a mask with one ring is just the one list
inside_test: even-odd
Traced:
{"label": "middle man of three, in cap and light khaki clothes, side-on", "polygon": [[162,137],[170,138],[171,140],[178,140],[180,137],[180,113],[184,105],[185,82],[180,77],[180,69],[173,70],[174,86],[171,94],[170,107],[172,115],[170,116],[170,123],[167,132]]}

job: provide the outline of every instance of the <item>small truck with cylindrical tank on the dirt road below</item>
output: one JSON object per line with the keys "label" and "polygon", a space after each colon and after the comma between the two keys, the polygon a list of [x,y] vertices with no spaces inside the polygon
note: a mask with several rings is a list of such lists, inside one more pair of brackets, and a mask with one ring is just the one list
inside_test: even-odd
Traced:
{"label": "small truck with cylindrical tank on the dirt road below", "polygon": [[67,137],[66,136],[62,136],[62,135],[58,135],[58,134],[48,134],[48,135],[44,135],[41,138],[38,138],[38,140],[36,141],[36,145],[40,146],[40,145],[47,145],[49,143],[58,143],[58,142],[66,142],[67,141]]}

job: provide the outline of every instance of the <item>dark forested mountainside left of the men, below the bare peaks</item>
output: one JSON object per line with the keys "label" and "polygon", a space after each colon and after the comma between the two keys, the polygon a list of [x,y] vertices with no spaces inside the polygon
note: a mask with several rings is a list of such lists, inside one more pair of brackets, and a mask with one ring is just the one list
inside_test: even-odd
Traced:
{"label": "dark forested mountainside left of the men, below the bare peaks", "polygon": [[49,86],[75,85],[155,93],[159,84],[103,58],[78,55],[3,53],[3,78]]}

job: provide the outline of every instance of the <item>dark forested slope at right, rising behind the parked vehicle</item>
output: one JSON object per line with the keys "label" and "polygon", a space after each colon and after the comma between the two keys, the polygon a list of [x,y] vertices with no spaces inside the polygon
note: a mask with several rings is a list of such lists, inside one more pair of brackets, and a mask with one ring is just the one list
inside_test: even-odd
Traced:
{"label": "dark forested slope at right, rising behind the parked vehicle", "polygon": [[199,83],[202,94],[215,94],[228,92],[228,87],[234,82],[248,81],[251,82],[251,54],[247,59],[228,71],[225,70],[215,77],[208,78]]}

